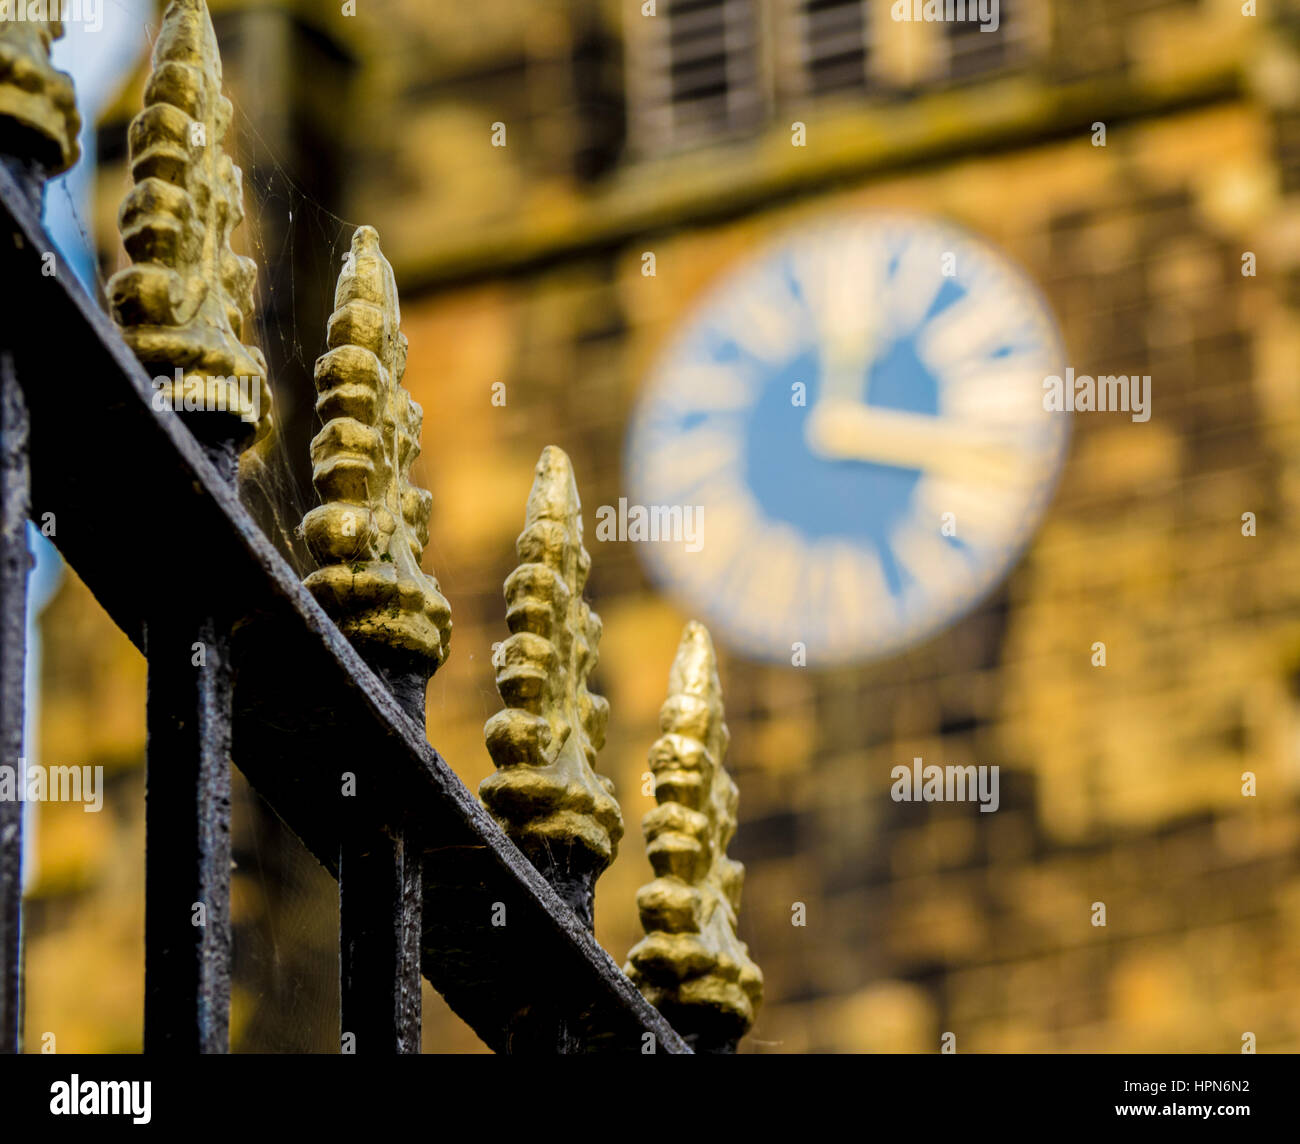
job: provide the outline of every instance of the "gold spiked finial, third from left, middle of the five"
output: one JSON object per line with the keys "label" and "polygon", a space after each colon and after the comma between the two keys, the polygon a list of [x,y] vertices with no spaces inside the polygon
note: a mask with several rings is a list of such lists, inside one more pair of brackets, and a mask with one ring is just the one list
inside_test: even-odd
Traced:
{"label": "gold spiked finial, third from left, middle of the five", "polygon": [[402,386],[402,333],[393,266],[372,226],[352,235],[334,291],[329,350],[316,361],[312,482],[324,502],[303,519],[321,568],[307,588],[343,633],[380,664],[426,681],[447,658],[451,608],[420,568],[433,498],[411,484],[424,411]]}

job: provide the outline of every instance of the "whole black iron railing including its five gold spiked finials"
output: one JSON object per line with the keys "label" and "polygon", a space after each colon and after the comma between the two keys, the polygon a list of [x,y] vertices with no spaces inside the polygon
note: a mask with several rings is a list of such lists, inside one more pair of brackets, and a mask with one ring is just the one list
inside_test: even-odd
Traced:
{"label": "whole black iron railing including its five gold spiked finials", "polygon": [[[205,0],[170,0],[159,30],[118,216],[131,265],[107,283],[109,313],[42,224],[46,178],[77,159],[72,82],[49,62],[60,32],[55,18],[0,22],[0,762],[23,757],[25,529],[53,519],[64,559],[148,663],[146,1052],[229,1048],[231,762],[338,880],[341,1052],[419,1052],[421,975],[498,1050],[734,1052],[762,974],[736,936],[737,792],[707,630],[682,633],[649,753],[655,876],[625,975],[592,936],[624,823],[594,768],[610,708],[588,686],[602,624],[584,598],[568,456],[542,451],[504,584],[504,707],[484,729],[498,770],[480,802],[425,738],[451,610],[421,567],[422,411],[402,387],[378,234],[354,234],[322,332],[321,503],[300,529],[316,564],[299,582],[238,491],[277,437],[265,359],[244,335],[256,266],[230,244],[243,192]],[[140,558],[159,537],[179,555],[166,567]],[[21,814],[0,798],[8,1052],[21,1043]]]}

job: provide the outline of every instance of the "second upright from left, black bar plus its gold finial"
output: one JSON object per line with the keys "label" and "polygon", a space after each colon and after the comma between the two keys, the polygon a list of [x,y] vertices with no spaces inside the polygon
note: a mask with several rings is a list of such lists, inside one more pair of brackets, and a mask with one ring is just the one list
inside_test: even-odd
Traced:
{"label": "second upright from left, black bar plus its gold finial", "polygon": [[[230,246],[243,221],[243,183],[222,146],[231,110],[203,0],[172,3],[164,12],[144,101],[129,131],[134,186],[118,213],[131,265],[104,292],[124,341],[153,377],[155,408],[183,416],[235,490],[239,454],[270,432],[270,390],[261,351],[243,342],[256,265]],[[152,187],[159,153],[178,156],[168,176],[174,190],[165,196]],[[177,233],[204,240],[159,239]],[[192,304],[177,306],[182,294]],[[229,1050],[230,633],[238,616],[221,602],[220,571],[211,577],[205,571],[200,567],[183,590],[160,590],[144,618],[144,1050],[151,1053]]]}

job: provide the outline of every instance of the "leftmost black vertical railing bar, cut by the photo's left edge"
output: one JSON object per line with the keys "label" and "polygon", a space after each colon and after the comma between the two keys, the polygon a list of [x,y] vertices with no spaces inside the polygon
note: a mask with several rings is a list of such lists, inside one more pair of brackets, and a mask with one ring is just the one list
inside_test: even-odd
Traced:
{"label": "leftmost black vertical railing bar, cut by the photo's left edge", "polygon": [[27,406],[13,355],[0,351],[0,766],[13,798],[0,798],[0,1053],[22,1044],[23,673],[27,663],[27,514],[31,507]]}

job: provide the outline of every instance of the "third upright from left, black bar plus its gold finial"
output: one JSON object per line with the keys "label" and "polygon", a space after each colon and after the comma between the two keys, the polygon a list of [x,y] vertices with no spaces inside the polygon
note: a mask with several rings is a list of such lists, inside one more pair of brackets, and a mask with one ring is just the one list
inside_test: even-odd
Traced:
{"label": "third upright from left, black bar plus its gold finial", "polygon": [[[325,424],[312,441],[312,484],[321,504],[303,517],[320,567],[304,582],[424,728],[451,608],[421,568],[433,498],[411,482],[411,465],[424,411],[402,387],[407,339],[396,278],[370,226],[352,235],[328,342],[315,369]],[[420,827],[408,823],[399,790],[367,781],[377,785],[341,790],[339,1049],[419,1053]]]}

